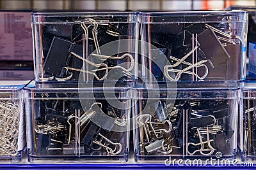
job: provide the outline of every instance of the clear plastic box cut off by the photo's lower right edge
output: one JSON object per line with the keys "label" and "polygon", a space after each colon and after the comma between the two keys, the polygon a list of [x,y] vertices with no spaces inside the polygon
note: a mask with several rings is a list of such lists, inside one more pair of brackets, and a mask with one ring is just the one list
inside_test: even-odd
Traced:
{"label": "clear plastic box cut off by the photo's lower right edge", "polygon": [[242,160],[256,160],[255,151],[255,113],[256,113],[256,83],[246,83],[242,89],[243,116],[239,120],[240,145]]}

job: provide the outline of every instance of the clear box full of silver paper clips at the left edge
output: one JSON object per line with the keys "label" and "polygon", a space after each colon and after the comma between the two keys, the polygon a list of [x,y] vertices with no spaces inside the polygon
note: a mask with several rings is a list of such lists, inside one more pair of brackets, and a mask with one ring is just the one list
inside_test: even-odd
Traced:
{"label": "clear box full of silver paper clips at the left edge", "polygon": [[0,163],[20,162],[26,150],[23,90],[0,86]]}

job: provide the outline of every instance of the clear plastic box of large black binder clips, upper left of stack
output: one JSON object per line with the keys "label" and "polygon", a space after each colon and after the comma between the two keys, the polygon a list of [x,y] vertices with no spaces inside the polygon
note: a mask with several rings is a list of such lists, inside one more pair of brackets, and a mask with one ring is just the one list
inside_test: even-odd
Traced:
{"label": "clear plastic box of large black binder clips, upper left of stack", "polygon": [[115,11],[32,13],[36,82],[131,80],[137,18]]}

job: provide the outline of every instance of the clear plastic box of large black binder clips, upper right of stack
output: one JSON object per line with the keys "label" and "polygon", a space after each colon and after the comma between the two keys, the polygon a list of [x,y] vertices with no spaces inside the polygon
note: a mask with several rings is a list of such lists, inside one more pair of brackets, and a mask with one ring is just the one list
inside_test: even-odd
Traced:
{"label": "clear plastic box of large black binder clips, upper right of stack", "polygon": [[246,11],[141,12],[147,81],[244,80]]}

